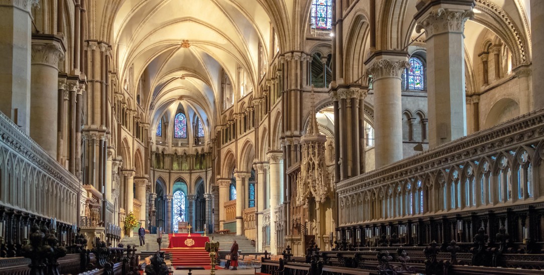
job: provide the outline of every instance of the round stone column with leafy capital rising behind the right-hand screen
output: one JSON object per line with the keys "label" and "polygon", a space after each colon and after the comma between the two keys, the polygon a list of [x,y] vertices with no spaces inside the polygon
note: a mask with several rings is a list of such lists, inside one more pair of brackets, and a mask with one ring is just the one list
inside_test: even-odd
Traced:
{"label": "round stone column with leafy capital rising behind the right-hand screen", "polygon": [[403,158],[400,74],[407,60],[407,52],[377,51],[365,62],[373,77],[376,169]]}

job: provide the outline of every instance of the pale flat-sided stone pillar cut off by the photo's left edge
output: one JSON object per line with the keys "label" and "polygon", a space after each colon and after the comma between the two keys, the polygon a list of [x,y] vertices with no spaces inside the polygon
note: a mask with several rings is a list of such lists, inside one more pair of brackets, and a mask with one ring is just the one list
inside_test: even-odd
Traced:
{"label": "pale flat-sided stone pillar cut off by the photo's left edge", "polygon": [[30,9],[34,5],[38,0],[9,0],[0,5],[0,111],[26,134],[30,133]]}

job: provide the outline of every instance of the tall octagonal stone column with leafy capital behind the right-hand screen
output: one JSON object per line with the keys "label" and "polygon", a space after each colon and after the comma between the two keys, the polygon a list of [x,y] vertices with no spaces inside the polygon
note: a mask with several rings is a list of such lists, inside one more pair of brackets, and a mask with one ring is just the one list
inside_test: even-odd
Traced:
{"label": "tall octagonal stone column with leafy capital behind the right-hand screen", "polygon": [[[423,3],[423,2],[419,2]],[[425,29],[429,148],[467,134],[465,108],[465,21],[472,0],[437,0],[418,5],[418,30]],[[376,127],[377,128],[377,127]],[[376,136],[376,142],[379,137]],[[376,152],[377,153],[377,152]]]}

